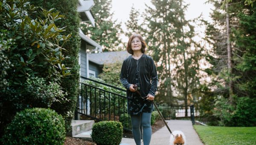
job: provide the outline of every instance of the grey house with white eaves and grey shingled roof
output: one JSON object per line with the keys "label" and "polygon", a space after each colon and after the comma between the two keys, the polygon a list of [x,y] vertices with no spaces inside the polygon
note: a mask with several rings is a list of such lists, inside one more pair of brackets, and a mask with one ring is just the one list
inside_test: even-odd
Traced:
{"label": "grey house with white eaves and grey shingled roof", "polygon": [[[91,23],[95,26],[93,14],[90,10],[93,5],[93,0],[79,0],[77,11],[80,13],[80,22]],[[81,38],[81,49],[79,52],[80,76],[98,77],[102,73],[104,63],[123,61],[130,55],[126,51],[102,52],[102,46],[84,35],[81,29],[79,29],[79,35]]]}

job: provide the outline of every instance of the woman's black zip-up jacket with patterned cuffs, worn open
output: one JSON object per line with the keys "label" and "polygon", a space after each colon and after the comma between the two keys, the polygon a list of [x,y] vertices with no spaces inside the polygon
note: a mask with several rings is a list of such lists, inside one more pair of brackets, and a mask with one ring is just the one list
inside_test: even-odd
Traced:
{"label": "woman's black zip-up jacket with patterned cuffs, worn open", "polygon": [[125,58],[120,73],[120,81],[126,88],[127,97],[131,99],[133,96],[133,92],[130,91],[130,85],[135,80],[136,70],[138,71],[141,96],[145,97],[148,94],[154,96],[157,91],[158,78],[153,59],[145,54],[140,57],[137,64],[135,63],[136,61],[132,59],[134,59],[132,56]]}

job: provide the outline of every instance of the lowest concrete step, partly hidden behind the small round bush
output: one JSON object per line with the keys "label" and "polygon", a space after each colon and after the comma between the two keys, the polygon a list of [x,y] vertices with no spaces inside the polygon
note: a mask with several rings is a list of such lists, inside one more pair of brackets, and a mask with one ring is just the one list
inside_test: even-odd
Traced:
{"label": "lowest concrete step, partly hidden behind the small round bush", "polygon": [[[92,130],[90,131],[85,131],[83,133],[80,133],[76,136],[73,137],[77,137],[80,139],[86,139],[86,140],[90,140],[93,141],[92,137],[90,136],[90,134],[92,133]],[[142,142],[143,140],[141,140]],[[122,141],[119,145],[136,145],[134,139],[129,139],[129,138],[122,138]]]}

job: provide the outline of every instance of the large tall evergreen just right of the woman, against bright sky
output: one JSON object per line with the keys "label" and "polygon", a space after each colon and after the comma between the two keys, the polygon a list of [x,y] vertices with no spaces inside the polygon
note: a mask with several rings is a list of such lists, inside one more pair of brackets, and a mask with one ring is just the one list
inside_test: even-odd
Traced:
{"label": "large tall evergreen just right of the woman, against bright sky", "polygon": [[[148,6],[146,22],[148,46],[157,61],[160,75],[159,99],[174,104],[173,92],[182,96],[187,105],[187,96],[199,83],[199,61],[202,49],[192,37],[195,31],[185,20],[186,5],[183,0],[152,0],[155,8]],[[177,96],[177,95],[176,95]],[[177,101],[177,100],[176,100]],[[187,116],[187,108],[186,108]]]}

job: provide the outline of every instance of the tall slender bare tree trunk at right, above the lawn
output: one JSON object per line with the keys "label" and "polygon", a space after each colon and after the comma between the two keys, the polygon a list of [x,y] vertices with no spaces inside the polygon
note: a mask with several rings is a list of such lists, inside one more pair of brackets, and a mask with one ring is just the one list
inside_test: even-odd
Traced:
{"label": "tall slender bare tree trunk at right, above the lawn", "polygon": [[231,45],[230,45],[230,20],[228,13],[228,3],[226,3],[226,23],[227,23],[227,69],[229,75],[229,99],[230,103],[233,102],[233,87],[232,87],[232,62],[231,62]]}

